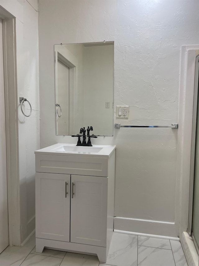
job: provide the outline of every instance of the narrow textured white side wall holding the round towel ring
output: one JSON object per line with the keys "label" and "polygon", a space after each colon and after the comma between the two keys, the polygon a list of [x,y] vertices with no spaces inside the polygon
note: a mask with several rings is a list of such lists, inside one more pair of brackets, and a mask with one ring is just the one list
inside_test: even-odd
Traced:
{"label": "narrow textured white side wall holding the round towel ring", "polygon": [[[27,98],[32,114],[18,106],[21,242],[35,229],[35,154],[39,148],[39,52],[37,0],[0,0],[16,17],[17,97]],[[27,103],[25,113],[30,109]],[[16,188],[17,189],[17,188]]]}

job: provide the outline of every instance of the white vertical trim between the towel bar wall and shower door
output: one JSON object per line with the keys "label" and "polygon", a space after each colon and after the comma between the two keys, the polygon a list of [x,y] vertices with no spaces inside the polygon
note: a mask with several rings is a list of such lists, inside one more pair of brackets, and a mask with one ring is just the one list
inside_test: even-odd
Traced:
{"label": "white vertical trim between the towel bar wall and shower door", "polygon": [[199,45],[182,46],[181,49],[175,211],[176,233],[180,238],[188,228],[194,74],[198,51]]}

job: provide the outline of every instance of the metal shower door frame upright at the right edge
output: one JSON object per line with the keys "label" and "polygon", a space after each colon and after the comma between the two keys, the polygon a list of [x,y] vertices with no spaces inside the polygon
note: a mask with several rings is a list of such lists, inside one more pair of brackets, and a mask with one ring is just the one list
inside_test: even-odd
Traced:
{"label": "metal shower door frame upright at the right edge", "polygon": [[197,128],[197,118],[198,118],[198,110],[197,110],[198,73],[199,73],[199,55],[197,55],[196,59],[195,59],[194,89],[193,89],[192,137],[191,137],[191,158],[190,158],[190,175],[189,175],[189,205],[188,205],[188,233],[189,233],[189,235],[192,235],[192,212],[193,212],[196,128]]}

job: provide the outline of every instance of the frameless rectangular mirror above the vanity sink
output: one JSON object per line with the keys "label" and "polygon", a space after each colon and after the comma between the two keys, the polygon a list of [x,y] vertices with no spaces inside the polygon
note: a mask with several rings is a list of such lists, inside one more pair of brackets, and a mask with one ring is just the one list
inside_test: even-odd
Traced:
{"label": "frameless rectangular mirror above the vanity sink", "polygon": [[55,52],[56,135],[113,136],[114,42],[60,44]]}

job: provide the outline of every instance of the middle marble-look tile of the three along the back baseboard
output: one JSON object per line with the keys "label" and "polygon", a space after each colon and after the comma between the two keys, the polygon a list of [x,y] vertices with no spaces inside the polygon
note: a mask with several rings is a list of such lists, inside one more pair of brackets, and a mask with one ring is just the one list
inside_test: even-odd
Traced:
{"label": "middle marble-look tile of the three along the back baseboard", "polygon": [[171,249],[169,239],[161,239],[154,237],[138,236],[138,246],[151,248]]}

